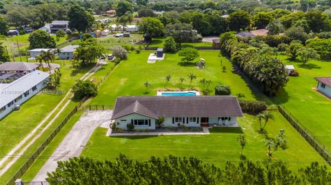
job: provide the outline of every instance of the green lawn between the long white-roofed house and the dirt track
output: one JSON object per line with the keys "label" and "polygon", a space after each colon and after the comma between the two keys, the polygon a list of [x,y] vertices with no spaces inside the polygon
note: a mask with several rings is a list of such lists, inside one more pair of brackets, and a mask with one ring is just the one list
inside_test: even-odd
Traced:
{"label": "green lawn between the long white-roofed house and the dirt track", "polygon": [[[77,73],[70,68],[70,61],[57,61],[64,64],[61,67],[61,83],[59,89],[68,91],[75,80],[88,72],[91,68],[85,67]],[[21,105],[19,111],[12,111],[0,121],[0,155],[8,153],[18,144],[34,127],[45,118],[66,95],[37,94]]]}

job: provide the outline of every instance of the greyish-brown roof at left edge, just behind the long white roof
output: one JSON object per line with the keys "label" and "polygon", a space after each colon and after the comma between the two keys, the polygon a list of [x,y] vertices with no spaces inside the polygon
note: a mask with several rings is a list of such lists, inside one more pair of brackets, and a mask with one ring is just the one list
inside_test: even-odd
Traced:
{"label": "greyish-brown roof at left edge, just behind the long white roof", "polygon": [[1,72],[11,71],[31,71],[39,67],[37,63],[25,63],[25,62],[7,62],[0,65]]}

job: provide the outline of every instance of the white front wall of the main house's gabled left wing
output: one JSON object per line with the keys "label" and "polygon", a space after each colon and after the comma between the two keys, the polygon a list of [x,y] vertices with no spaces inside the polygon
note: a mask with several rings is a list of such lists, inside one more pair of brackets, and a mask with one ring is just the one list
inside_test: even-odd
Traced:
{"label": "white front wall of the main house's gabled left wing", "polygon": [[147,125],[134,125],[134,129],[151,129],[151,130],[155,129],[155,119],[154,118],[142,116],[137,113],[132,113],[132,114],[129,114],[128,116],[123,116],[121,118],[115,119],[115,122],[119,123],[119,124],[117,124],[118,128],[127,130],[128,129],[127,124],[130,124],[131,120],[150,120],[150,124],[148,123]]}

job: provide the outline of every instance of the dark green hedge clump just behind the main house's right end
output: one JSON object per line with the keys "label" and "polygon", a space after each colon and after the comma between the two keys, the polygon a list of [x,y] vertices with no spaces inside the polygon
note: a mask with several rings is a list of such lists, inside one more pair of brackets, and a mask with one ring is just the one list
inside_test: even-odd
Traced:
{"label": "dark green hedge clump just behind the main house's right end", "polygon": [[239,100],[239,104],[243,113],[257,115],[267,110],[267,104],[263,101]]}

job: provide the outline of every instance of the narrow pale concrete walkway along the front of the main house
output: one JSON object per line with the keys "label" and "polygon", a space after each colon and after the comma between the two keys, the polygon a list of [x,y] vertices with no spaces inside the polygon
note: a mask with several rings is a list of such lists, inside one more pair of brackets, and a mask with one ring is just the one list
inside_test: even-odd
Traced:
{"label": "narrow pale concrete walkway along the front of the main house", "polygon": [[107,136],[124,136],[124,135],[207,135],[208,127],[202,127],[203,132],[188,132],[188,131],[164,131],[164,132],[126,132],[126,133],[111,133]]}

